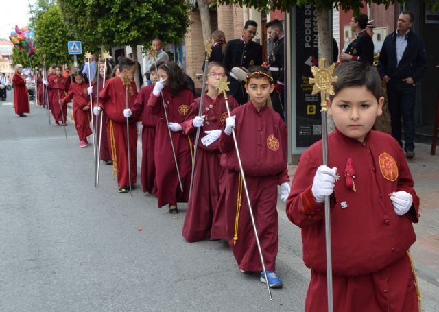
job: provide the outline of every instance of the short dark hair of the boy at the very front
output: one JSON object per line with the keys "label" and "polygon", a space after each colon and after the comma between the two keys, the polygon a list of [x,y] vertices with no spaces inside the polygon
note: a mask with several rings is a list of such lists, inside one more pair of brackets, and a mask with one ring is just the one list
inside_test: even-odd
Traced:
{"label": "short dark hair of the boy at the very front", "polygon": [[338,77],[334,82],[334,95],[331,100],[344,88],[364,87],[370,91],[377,101],[381,97],[381,79],[375,67],[365,62],[344,62],[335,68],[334,75]]}

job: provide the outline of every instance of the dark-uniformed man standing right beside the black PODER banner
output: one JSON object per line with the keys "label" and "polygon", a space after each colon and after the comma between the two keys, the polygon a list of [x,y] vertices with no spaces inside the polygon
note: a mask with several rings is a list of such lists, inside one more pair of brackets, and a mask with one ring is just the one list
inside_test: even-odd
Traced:
{"label": "dark-uniformed man standing right beside the black PODER banner", "polygon": [[273,109],[281,115],[283,121],[285,121],[285,95],[283,87],[285,86],[283,80],[283,24],[278,19],[270,21],[266,25],[268,38],[274,43],[274,48],[270,56],[268,57],[268,63],[270,64],[270,72],[272,73],[274,91],[272,92],[272,105]]}

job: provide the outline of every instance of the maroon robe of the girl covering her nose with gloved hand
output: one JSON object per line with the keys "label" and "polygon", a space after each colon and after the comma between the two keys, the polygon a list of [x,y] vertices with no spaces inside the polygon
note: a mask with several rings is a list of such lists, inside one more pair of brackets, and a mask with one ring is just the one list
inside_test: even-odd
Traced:
{"label": "maroon robe of the girl covering her nose with gloved hand", "polygon": [[[189,106],[193,101],[193,93],[182,89],[177,95],[172,96],[169,89],[162,91],[167,106],[169,122],[182,123],[185,121]],[[191,182],[191,147],[189,137],[181,131],[171,131],[172,141],[178,161],[178,169],[182,180],[183,192],[178,184],[178,176],[174,155],[172,154],[171,141],[169,141],[168,125],[166,124],[165,111],[163,110],[162,98],[151,95],[147,109],[153,115],[157,115],[156,142],[154,158],[156,161],[157,181],[157,204],[160,208],[165,204],[187,202],[189,196],[189,184]]]}

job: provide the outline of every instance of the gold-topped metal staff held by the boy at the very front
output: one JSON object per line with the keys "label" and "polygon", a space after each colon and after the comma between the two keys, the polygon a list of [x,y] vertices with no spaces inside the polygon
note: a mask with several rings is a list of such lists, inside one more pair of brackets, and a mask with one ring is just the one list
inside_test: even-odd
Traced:
{"label": "gold-topped metal staff held by the boy at the very front", "polygon": [[[335,64],[328,68],[324,68],[324,58],[320,58],[320,69],[316,66],[311,67],[313,78],[309,78],[309,83],[314,84],[312,94],[320,92],[322,106],[322,141],[323,141],[323,165],[328,165],[328,125],[327,125],[327,104],[326,95],[334,94],[333,82],[338,77],[333,76]],[[332,296],[332,256],[331,256],[331,215],[329,214],[329,196],[324,197],[324,234],[327,248],[327,293],[328,293],[328,311],[333,311]]]}

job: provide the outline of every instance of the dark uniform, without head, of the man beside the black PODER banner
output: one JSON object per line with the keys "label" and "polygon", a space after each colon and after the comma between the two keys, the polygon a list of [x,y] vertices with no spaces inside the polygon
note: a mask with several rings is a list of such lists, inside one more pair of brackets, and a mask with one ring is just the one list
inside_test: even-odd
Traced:
{"label": "dark uniform, without head, of the man beside the black PODER banner", "polygon": [[284,106],[284,76],[283,76],[283,42],[284,37],[278,38],[274,43],[274,48],[270,56],[268,57],[268,62],[270,67],[268,68],[272,73],[273,83],[276,84],[276,89],[272,92],[272,105],[273,109],[281,115],[283,121],[285,121],[285,106]]}

